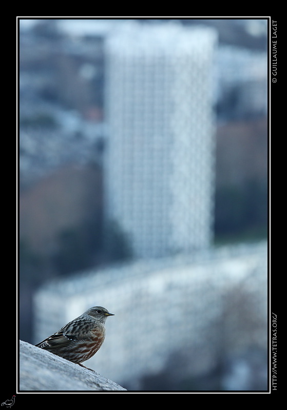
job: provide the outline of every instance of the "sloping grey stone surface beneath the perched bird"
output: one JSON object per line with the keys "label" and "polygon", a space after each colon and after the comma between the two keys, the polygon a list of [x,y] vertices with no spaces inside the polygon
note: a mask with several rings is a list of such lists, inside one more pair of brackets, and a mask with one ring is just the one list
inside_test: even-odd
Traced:
{"label": "sloping grey stone surface beneath the perched bird", "polygon": [[20,391],[126,391],[119,384],[20,341]]}

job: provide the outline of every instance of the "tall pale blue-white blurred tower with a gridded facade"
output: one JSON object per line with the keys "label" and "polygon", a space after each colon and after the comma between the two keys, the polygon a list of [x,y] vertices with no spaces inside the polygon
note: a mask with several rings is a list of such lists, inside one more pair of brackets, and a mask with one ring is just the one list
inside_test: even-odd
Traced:
{"label": "tall pale blue-white blurred tower with a gridded facade", "polygon": [[106,39],[106,218],[136,257],[213,237],[216,32],[138,26]]}

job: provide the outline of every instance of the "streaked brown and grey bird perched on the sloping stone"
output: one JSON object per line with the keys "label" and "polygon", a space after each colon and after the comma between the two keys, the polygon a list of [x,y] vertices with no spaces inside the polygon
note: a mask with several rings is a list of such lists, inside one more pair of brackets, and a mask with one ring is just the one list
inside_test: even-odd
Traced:
{"label": "streaked brown and grey bird perched on the sloping stone", "polygon": [[88,368],[82,362],[90,359],[102,346],[108,316],[114,314],[102,306],[93,306],[35,346]]}

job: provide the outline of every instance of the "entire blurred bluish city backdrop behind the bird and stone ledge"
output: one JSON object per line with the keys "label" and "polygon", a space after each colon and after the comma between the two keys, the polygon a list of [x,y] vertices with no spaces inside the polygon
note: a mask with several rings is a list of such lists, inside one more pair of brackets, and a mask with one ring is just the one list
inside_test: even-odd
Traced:
{"label": "entire blurred bluish city backdrop behind the bird and stone ledge", "polygon": [[20,18],[22,340],[103,305],[127,389],[267,389],[267,23]]}

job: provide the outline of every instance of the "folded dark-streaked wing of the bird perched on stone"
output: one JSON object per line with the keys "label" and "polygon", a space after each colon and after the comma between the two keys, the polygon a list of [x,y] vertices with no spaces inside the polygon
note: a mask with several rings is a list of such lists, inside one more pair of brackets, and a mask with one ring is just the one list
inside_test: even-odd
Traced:
{"label": "folded dark-streaked wing of the bird perched on stone", "polygon": [[74,342],[89,338],[91,332],[94,336],[97,336],[100,333],[99,325],[89,318],[85,318],[83,321],[80,316],[66,324],[58,332],[36,344],[36,346],[42,348],[72,346]]}

